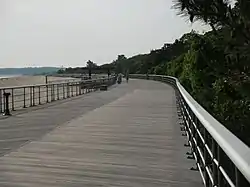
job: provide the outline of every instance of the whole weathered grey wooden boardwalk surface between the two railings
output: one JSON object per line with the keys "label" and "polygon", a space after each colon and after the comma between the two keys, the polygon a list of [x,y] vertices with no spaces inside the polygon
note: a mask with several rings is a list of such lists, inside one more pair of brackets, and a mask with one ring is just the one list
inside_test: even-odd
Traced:
{"label": "whole weathered grey wooden boardwalk surface between the two railings", "polygon": [[0,186],[202,186],[170,86],[131,80],[59,102],[0,120]]}

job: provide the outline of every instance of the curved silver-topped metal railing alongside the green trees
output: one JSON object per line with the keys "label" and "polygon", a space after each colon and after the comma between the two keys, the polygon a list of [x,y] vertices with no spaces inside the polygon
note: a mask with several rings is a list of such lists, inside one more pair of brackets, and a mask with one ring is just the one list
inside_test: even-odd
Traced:
{"label": "curved silver-topped metal railing alongside the green trees", "polygon": [[175,88],[186,146],[191,148],[188,158],[195,159],[193,169],[200,172],[205,186],[250,186],[250,148],[199,105],[178,79],[160,75],[130,77],[162,81]]}

